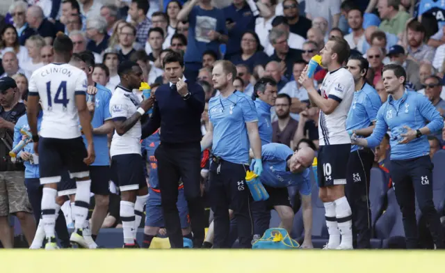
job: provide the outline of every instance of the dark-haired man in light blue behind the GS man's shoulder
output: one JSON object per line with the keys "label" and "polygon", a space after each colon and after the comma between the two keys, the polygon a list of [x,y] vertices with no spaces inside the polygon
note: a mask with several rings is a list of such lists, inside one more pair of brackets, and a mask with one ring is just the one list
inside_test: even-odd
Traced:
{"label": "dark-haired man in light blue behind the GS man's shoulder", "polygon": [[254,86],[252,100],[258,114],[258,132],[261,146],[272,142],[272,121],[270,120],[270,107],[275,105],[277,99],[277,83],[268,77],[261,78]]}

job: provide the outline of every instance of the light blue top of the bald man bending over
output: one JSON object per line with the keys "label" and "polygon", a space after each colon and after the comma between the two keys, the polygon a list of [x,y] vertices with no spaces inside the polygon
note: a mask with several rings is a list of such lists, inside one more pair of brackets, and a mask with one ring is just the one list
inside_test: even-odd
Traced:
{"label": "light blue top of the bald man bending over", "polygon": [[[261,183],[270,187],[297,186],[300,194],[311,194],[309,166],[312,165],[314,157],[307,158],[307,160],[298,157],[292,158],[294,153],[291,148],[281,143],[268,143],[261,149],[264,170],[259,177]],[[298,160],[302,161],[300,169],[291,171],[291,163]]]}

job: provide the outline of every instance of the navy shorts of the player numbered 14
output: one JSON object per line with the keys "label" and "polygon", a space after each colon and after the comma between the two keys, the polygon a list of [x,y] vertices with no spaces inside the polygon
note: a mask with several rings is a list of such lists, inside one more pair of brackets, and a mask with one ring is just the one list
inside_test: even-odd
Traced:
{"label": "navy shorts of the player numbered 14", "polygon": [[83,162],[87,151],[83,139],[53,139],[41,137],[39,141],[40,184],[58,183],[60,170],[67,169],[71,178],[84,178],[90,175]]}

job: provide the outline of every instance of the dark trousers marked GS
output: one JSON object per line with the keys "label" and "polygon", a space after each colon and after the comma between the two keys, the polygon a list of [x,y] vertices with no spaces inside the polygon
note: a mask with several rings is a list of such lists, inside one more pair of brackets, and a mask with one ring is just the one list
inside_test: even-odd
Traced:
{"label": "dark trousers marked GS", "polygon": [[229,239],[229,208],[234,211],[240,248],[252,248],[250,191],[245,183],[249,166],[221,160],[212,162],[209,171],[211,209],[215,237],[213,248],[232,247]]}

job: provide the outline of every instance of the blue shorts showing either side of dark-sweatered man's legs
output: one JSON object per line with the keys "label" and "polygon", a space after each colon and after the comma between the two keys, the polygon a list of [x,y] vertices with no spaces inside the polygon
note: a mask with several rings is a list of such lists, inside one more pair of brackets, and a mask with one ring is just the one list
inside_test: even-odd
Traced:
{"label": "blue shorts showing either side of dark-sweatered man's legs", "polygon": [[[188,226],[190,226],[190,219],[188,217],[188,207],[184,189],[179,189],[176,205],[179,211],[181,228],[188,228]],[[147,215],[145,217],[145,226],[152,226],[155,228],[163,228],[165,226],[162,216],[161,192],[154,192],[152,188],[149,189],[149,196],[145,210]]]}

